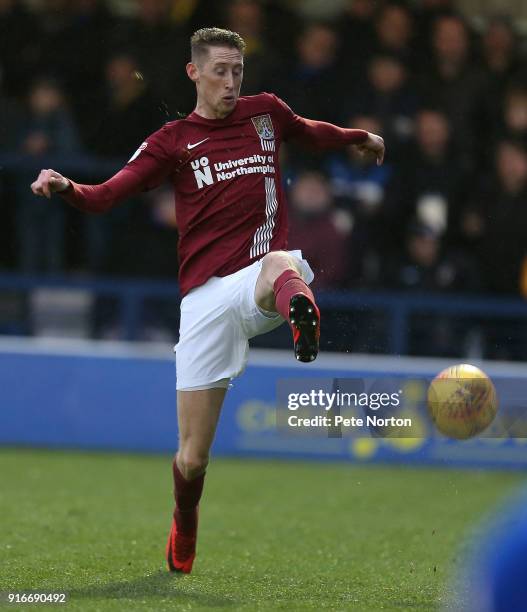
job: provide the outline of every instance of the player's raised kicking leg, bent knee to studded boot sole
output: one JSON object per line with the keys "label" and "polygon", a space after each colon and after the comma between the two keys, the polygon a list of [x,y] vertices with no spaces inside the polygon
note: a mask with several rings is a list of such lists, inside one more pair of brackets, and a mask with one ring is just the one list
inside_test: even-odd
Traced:
{"label": "player's raised kicking leg, bent knee to studded boot sole", "polygon": [[259,308],[278,312],[293,332],[295,356],[313,361],[318,354],[320,311],[302,278],[301,262],[286,251],[272,251],[262,260],[254,300]]}

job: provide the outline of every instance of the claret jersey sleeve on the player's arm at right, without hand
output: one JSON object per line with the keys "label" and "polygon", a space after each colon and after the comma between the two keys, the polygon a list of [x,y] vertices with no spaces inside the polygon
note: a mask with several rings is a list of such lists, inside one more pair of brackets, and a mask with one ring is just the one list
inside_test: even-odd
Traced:
{"label": "claret jersey sleeve on the player's arm at right, without hand", "polygon": [[284,140],[294,140],[316,149],[338,149],[350,144],[362,144],[368,138],[365,130],[341,128],[325,121],[306,119],[294,113],[289,106],[274,94],[276,113]]}

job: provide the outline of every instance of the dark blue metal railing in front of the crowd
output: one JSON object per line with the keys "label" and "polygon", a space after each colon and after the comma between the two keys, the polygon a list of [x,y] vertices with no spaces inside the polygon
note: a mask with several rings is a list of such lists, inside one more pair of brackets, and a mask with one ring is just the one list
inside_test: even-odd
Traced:
{"label": "dark blue metal railing in front of the crowd", "polygon": [[[141,322],[148,300],[179,300],[179,288],[173,281],[53,278],[0,274],[0,299],[2,294],[9,292],[30,293],[43,290],[72,293],[84,291],[93,299],[101,296],[115,298],[120,311],[120,325],[118,326],[120,340],[140,339]],[[324,310],[341,313],[351,311],[380,313],[387,322],[386,352],[394,355],[404,355],[408,352],[412,329],[410,323],[415,315],[435,314],[441,317],[462,317],[465,320],[480,318],[504,322],[517,319],[527,322],[527,301],[521,299],[413,292],[319,291],[317,302]],[[5,327],[15,329],[16,335],[25,335],[23,326],[13,324]],[[519,328],[516,331],[518,332]],[[1,321],[0,333],[2,333]],[[518,339],[518,334],[516,336]],[[523,345],[523,336],[520,341]]]}

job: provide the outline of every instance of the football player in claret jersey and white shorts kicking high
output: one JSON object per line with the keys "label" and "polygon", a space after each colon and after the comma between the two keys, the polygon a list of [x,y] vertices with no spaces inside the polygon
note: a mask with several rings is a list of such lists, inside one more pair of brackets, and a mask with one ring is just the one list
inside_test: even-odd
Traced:
{"label": "football player in claret jersey and white shorts kicking high", "polygon": [[235,32],[198,30],[188,77],[195,110],[149,136],[127,165],[100,185],[42,170],[31,189],[58,192],[101,213],[170,179],[177,202],[181,324],[176,346],[179,449],[175,510],[166,554],[190,573],[198,503],[209,450],[230,379],[244,370],[248,340],[287,321],[296,358],[318,352],[320,313],[300,252],[288,252],[287,210],[278,153],[283,141],[318,149],[355,145],[384,157],[381,137],[296,115],[272,94],[240,97],[245,43]]}

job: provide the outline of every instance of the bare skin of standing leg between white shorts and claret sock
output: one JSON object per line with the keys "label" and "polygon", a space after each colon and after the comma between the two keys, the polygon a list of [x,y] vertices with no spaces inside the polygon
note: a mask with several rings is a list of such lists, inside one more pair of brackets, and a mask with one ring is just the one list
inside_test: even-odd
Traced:
{"label": "bare skin of standing leg between white shorts and claret sock", "polygon": [[177,392],[180,452],[208,457],[225,392],[224,387]]}

